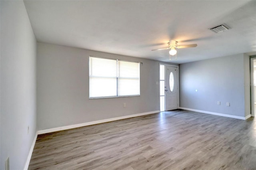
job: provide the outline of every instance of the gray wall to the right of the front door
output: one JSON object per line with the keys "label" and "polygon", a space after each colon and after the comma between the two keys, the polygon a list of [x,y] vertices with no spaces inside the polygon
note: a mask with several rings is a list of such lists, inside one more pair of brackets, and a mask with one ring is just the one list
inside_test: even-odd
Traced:
{"label": "gray wall to the right of the front door", "polygon": [[250,84],[250,61],[244,54],[181,64],[180,107],[244,117],[250,114],[246,83]]}

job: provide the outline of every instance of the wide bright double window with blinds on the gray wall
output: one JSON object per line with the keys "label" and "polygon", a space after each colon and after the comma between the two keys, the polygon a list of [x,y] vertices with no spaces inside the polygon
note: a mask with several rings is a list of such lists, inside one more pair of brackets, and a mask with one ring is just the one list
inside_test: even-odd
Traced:
{"label": "wide bright double window with blinds on the gray wall", "polygon": [[140,95],[140,63],[89,57],[89,98]]}

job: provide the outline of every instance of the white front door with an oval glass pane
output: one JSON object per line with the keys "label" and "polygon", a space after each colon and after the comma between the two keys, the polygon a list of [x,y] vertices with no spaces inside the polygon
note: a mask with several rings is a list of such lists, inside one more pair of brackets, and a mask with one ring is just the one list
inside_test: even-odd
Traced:
{"label": "white front door with an oval glass pane", "polygon": [[165,111],[178,109],[178,68],[165,66]]}

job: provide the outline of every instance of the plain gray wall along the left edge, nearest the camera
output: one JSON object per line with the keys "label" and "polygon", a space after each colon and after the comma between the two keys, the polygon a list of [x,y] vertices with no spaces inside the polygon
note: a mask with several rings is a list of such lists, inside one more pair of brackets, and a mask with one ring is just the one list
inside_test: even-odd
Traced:
{"label": "plain gray wall along the left edge, nearest the camera", "polygon": [[0,4],[0,169],[9,156],[10,169],[20,170],[36,134],[36,39],[23,1]]}

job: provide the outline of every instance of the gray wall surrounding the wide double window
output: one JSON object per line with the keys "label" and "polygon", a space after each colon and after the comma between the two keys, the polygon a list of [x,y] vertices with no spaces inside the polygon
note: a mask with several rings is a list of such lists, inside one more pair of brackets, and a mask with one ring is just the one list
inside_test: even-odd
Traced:
{"label": "gray wall surrounding the wide double window", "polygon": [[[48,43],[37,48],[38,130],[159,110],[158,61]],[[140,96],[89,99],[89,55],[142,62]]]}

